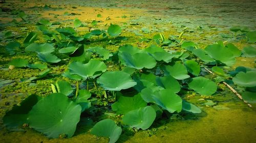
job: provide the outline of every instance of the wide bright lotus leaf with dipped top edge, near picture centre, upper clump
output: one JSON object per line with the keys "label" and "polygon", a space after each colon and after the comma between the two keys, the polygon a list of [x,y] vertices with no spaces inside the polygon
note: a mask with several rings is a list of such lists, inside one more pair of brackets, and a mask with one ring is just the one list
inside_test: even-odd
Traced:
{"label": "wide bright lotus leaf with dipped top edge, near picture centre, upper clump", "polygon": [[[122,64],[135,69],[152,69],[156,66],[156,60],[147,53],[135,53],[131,55],[127,52],[118,53]],[[145,62],[146,61],[146,62]]]}

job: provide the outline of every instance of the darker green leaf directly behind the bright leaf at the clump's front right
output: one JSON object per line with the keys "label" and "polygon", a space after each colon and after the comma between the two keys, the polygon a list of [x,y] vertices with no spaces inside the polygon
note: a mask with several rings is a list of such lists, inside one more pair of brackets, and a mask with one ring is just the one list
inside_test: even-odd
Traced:
{"label": "darker green leaf directly behind the bright leaf at the clump's front right", "polygon": [[156,82],[159,86],[164,89],[169,89],[174,93],[178,93],[180,91],[180,83],[170,75],[157,77]]}

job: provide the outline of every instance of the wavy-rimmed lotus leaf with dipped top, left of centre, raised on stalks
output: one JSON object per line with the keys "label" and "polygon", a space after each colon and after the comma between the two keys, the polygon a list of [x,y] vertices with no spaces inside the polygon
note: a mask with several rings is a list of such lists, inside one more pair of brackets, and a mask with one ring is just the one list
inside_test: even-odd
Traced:
{"label": "wavy-rimmed lotus leaf with dipped top, left of centre, raised on stalks", "polygon": [[72,62],[69,65],[69,70],[70,74],[77,74],[83,77],[83,79],[95,78],[106,71],[106,65],[104,62],[92,59],[87,64]]}

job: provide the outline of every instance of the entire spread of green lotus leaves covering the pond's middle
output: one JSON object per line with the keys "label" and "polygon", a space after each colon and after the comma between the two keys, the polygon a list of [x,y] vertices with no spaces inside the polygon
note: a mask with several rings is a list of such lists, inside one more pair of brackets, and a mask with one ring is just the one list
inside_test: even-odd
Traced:
{"label": "entire spread of green lotus leaves covering the pond's middle", "polygon": [[[97,21],[91,24],[95,25]],[[255,47],[248,46],[241,51],[232,43],[218,41],[201,49],[194,42],[180,41],[182,35],[176,39],[165,39],[162,34],[157,34],[153,38],[156,43],[168,45],[179,41],[180,49],[164,49],[158,45],[139,49],[125,44],[119,46],[118,52],[110,52],[102,46],[87,47],[86,44],[93,36],[111,37],[110,43],[111,39],[123,39],[119,37],[122,33],[119,25],[111,24],[106,31],[92,30],[82,36],[73,27],[60,27],[53,31],[49,25],[52,23],[46,19],[37,22],[37,28],[47,43],[34,43],[37,34],[30,32],[23,43],[25,48],[14,41],[7,44],[6,50],[11,55],[23,51],[35,52],[48,65],[64,60],[57,57],[63,55],[71,62],[62,76],[76,80],[76,90],[67,81],[57,81],[52,84],[52,94],[46,97],[29,96],[6,113],[4,124],[10,130],[29,126],[49,138],[72,137],[81,113],[91,107],[89,81],[95,84],[95,88],[99,86],[105,90],[104,93],[108,94],[105,98],[114,96],[112,111],[123,115],[118,125],[137,130],[150,128],[165,112],[200,113],[200,107],[181,98],[181,90],[210,96],[216,93],[218,82],[228,80],[243,87],[242,95],[246,101],[256,102],[255,69],[238,67],[229,74],[222,69],[223,66],[232,66],[241,54],[255,57]],[[83,26],[82,22],[75,19],[74,27],[80,26]],[[248,41],[255,43],[255,35],[255,31],[248,32]],[[118,65],[119,70],[110,71],[106,65],[110,61]],[[9,65],[43,70],[29,80],[44,78],[50,72],[46,64],[29,64],[26,59],[14,59]],[[204,77],[204,67],[211,68],[218,77],[214,81]],[[79,88],[82,81],[87,81],[86,89]],[[122,132],[118,125],[112,119],[105,119],[95,124],[91,133],[109,137],[110,142],[115,142]]]}

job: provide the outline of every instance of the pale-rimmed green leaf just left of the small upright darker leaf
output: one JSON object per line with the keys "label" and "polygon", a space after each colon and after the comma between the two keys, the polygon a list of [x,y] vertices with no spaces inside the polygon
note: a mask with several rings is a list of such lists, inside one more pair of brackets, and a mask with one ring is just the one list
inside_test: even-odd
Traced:
{"label": "pale-rimmed green leaf just left of the small upright darker leaf", "polygon": [[187,75],[187,69],[179,62],[175,62],[172,65],[163,65],[160,67],[165,75],[171,75],[175,79],[182,80],[190,77]]}

